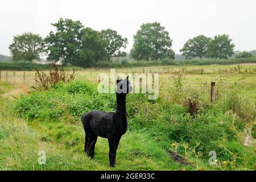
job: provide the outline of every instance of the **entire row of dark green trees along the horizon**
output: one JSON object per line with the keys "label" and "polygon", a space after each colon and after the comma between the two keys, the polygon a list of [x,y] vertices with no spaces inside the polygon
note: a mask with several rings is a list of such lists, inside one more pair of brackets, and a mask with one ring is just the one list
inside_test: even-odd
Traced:
{"label": "entire row of dark green trees along the horizon", "polygon": [[[128,40],[115,30],[96,31],[84,27],[79,20],[63,18],[52,23],[52,26],[56,31],[49,32],[46,38],[31,32],[14,36],[9,46],[13,60],[38,60],[42,53],[46,53],[48,61],[61,60],[64,65],[90,67],[100,60],[126,56],[124,50]],[[169,32],[160,23],[144,23],[134,35],[130,56],[136,60],[174,59],[175,53],[171,46]],[[217,35],[214,38],[199,35],[189,39],[180,52],[186,59],[226,59],[233,55],[233,49],[234,44],[228,35]],[[243,55],[248,56],[245,53]]]}

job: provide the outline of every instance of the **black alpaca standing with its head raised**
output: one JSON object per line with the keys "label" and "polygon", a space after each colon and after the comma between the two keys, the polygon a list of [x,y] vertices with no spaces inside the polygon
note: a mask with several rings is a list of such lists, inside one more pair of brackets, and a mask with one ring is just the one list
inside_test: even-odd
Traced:
{"label": "black alpaca standing with its head raised", "polygon": [[117,109],[114,113],[93,110],[82,116],[82,125],[85,131],[84,150],[87,156],[94,158],[94,148],[98,136],[109,140],[109,162],[115,165],[115,155],[119,140],[127,130],[126,95],[131,92],[129,78],[117,78]]}

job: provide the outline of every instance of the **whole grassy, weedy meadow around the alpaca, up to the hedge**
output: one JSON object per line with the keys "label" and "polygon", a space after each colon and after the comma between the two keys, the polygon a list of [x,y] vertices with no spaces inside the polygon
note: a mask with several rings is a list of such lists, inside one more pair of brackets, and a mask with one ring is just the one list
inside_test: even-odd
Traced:
{"label": "whole grassy, weedy meadow around the alpaca, up to the hedge", "polygon": [[[106,139],[98,139],[94,160],[85,156],[81,125],[86,111],[115,110],[115,95],[97,92],[98,74],[109,71],[77,70],[74,81],[42,91],[31,88],[35,71],[9,71],[7,82],[2,71],[0,169],[254,170],[256,64],[115,69],[160,76],[158,100],[127,97],[129,129],[115,168],[109,167]],[[40,151],[46,152],[46,164],[38,163]],[[210,151],[217,154],[214,165]]]}

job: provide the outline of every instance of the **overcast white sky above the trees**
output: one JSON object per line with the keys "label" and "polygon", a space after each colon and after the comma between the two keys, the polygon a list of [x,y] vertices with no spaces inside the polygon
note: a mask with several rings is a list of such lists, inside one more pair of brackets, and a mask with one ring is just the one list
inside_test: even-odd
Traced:
{"label": "overcast white sky above the trees", "polygon": [[1,0],[0,54],[10,55],[13,36],[34,32],[45,37],[59,18],[80,20],[94,30],[112,28],[129,40],[142,23],[160,22],[170,32],[172,49],[197,35],[228,34],[236,50],[256,49],[255,0]]}

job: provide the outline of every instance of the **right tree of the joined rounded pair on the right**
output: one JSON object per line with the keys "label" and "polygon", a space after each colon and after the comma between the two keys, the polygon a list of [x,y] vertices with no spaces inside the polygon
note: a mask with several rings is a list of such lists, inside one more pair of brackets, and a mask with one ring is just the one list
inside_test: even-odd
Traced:
{"label": "right tree of the joined rounded pair on the right", "polygon": [[227,59],[233,55],[234,47],[235,46],[232,43],[232,39],[229,38],[229,35],[223,34],[214,36],[208,44],[207,57]]}

